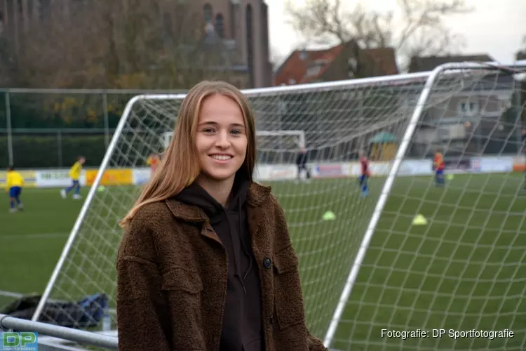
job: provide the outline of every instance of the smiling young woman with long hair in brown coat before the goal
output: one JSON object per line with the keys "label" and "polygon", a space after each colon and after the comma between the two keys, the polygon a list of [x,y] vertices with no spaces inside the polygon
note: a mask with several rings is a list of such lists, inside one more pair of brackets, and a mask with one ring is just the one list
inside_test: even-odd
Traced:
{"label": "smiling young woman with long hair in brown coat before the goal", "polygon": [[297,255],[270,187],[252,181],[255,159],[241,91],[194,86],[121,222],[119,350],[327,350],[306,328]]}

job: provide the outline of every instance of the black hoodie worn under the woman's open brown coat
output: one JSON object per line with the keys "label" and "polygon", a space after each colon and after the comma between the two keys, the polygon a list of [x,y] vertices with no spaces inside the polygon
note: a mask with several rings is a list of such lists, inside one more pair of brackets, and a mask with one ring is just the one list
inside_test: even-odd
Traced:
{"label": "black hoodie worn under the woman's open brown coat", "polygon": [[220,351],[264,350],[259,272],[252,255],[245,209],[249,185],[247,176],[242,176],[242,173],[236,175],[228,208],[197,183],[175,196],[184,204],[203,209],[227,250],[227,300]]}

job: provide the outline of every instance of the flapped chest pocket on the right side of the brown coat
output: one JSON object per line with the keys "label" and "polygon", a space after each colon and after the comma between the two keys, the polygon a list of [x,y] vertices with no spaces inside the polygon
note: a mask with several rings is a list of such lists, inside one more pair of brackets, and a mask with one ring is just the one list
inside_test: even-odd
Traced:
{"label": "flapped chest pocket on the right side of the brown coat", "polygon": [[305,320],[298,263],[292,246],[274,253],[274,301],[280,329]]}

